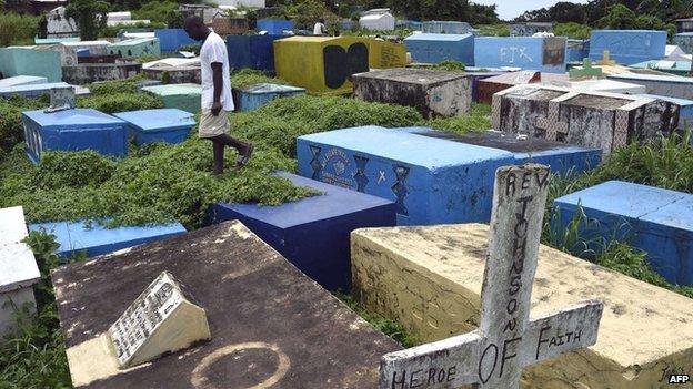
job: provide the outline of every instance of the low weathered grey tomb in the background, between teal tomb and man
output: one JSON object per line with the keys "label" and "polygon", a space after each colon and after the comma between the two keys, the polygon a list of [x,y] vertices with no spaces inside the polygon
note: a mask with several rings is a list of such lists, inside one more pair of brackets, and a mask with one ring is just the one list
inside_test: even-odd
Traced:
{"label": "low weathered grey tomb in the background, between teal tomb and man", "polygon": [[129,79],[141,72],[142,64],[129,60],[117,60],[116,63],[79,63],[62,68],[64,81],[78,85]]}

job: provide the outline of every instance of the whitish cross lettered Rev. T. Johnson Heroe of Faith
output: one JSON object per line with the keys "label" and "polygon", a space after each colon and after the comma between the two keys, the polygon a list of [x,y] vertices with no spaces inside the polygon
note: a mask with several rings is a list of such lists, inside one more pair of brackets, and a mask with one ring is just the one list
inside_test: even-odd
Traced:
{"label": "whitish cross lettered Rev. T. Johnson Heroe of Faith", "polygon": [[519,388],[524,367],[596,342],[597,300],[529,320],[548,186],[546,166],[496,171],[479,329],[383,356],[381,389]]}

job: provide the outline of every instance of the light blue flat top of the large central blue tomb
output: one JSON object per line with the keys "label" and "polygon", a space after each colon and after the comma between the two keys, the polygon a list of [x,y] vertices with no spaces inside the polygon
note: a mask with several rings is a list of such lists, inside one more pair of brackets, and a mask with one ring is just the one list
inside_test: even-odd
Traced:
{"label": "light blue flat top of the large central blue tomb", "polygon": [[321,132],[299,139],[426,168],[513,157],[511,153],[501,150],[436,140],[373,125]]}

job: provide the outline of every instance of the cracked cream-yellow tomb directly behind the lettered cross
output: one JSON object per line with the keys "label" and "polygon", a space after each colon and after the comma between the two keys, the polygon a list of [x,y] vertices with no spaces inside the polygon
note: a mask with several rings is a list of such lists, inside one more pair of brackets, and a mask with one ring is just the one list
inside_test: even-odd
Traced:
{"label": "cracked cream-yellow tomb directly behind the lettered cross", "polygon": [[[474,224],[356,231],[356,296],[424,341],[472,331],[488,233]],[[693,369],[690,298],[541,246],[532,317],[595,295],[604,301],[596,345],[526,369],[524,388],[660,388],[663,373]]]}

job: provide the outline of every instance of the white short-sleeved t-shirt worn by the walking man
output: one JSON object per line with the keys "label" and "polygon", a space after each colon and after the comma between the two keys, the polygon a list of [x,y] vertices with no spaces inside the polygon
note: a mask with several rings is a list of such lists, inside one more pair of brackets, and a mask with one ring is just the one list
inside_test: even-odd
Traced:
{"label": "white short-sleeved t-shirt worn by the walking man", "polygon": [[233,95],[231,94],[231,74],[229,70],[229,54],[223,39],[213,31],[204,40],[200,49],[200,65],[202,66],[202,110],[211,110],[214,103],[214,78],[212,63],[222,64],[223,83],[221,90],[221,106],[224,111],[233,111]]}

